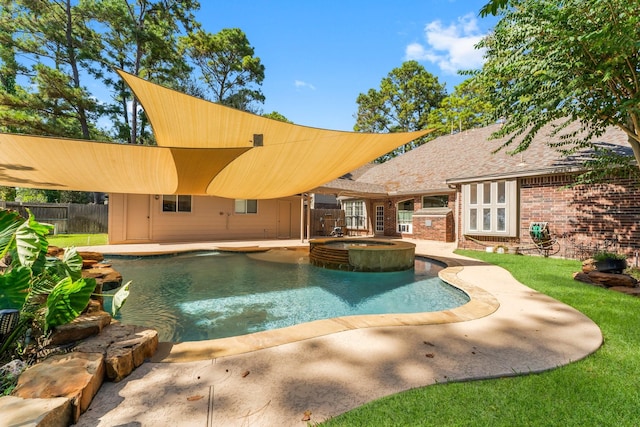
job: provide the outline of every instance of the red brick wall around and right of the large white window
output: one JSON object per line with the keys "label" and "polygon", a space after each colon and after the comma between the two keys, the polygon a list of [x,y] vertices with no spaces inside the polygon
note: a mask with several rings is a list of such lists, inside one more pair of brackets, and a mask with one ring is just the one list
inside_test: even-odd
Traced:
{"label": "red brick wall around and right of the large white window", "polygon": [[[640,186],[632,180],[617,180],[588,186],[569,185],[570,175],[523,178],[519,181],[519,238],[478,237],[483,242],[530,245],[529,224],[549,223],[560,242],[558,255],[585,258],[598,247],[634,256],[640,250]],[[458,197],[460,193],[458,192]],[[461,248],[479,249],[458,228]]]}

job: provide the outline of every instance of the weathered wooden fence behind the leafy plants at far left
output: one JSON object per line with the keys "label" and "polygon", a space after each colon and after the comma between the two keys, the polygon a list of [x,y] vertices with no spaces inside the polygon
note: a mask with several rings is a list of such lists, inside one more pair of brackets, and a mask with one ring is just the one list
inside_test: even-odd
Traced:
{"label": "weathered wooden fence behind the leafy plants at far left", "polygon": [[18,211],[25,218],[29,209],[37,221],[53,225],[54,234],[106,233],[109,223],[107,205],[0,201],[0,207]]}

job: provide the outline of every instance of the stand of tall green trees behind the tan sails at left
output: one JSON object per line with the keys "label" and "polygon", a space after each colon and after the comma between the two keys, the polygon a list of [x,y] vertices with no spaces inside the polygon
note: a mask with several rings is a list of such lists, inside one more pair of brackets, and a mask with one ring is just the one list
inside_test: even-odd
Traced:
{"label": "stand of tall green trees behind the tan sails at left", "polygon": [[[264,66],[239,29],[201,30],[199,8],[196,0],[0,0],[0,131],[154,144],[143,108],[115,69],[255,109],[265,99]],[[207,87],[197,84],[194,67]],[[0,196],[21,193],[0,188]]]}

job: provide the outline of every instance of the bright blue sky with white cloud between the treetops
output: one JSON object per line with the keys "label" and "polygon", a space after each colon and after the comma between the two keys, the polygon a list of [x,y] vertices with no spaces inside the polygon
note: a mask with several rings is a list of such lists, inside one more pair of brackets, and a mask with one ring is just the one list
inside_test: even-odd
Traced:
{"label": "bright blue sky with white cloud between the treetops", "polygon": [[406,60],[446,83],[478,68],[473,45],[496,19],[480,18],[486,0],[201,1],[206,31],[240,28],[265,66],[263,111],[299,125],[353,130],[356,98]]}

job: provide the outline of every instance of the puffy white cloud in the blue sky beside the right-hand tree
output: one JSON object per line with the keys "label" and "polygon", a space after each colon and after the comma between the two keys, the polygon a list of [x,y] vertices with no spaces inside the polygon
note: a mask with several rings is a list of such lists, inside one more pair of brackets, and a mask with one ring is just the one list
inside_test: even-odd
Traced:
{"label": "puffy white cloud in the blue sky beside the right-hand tree", "polygon": [[458,70],[479,68],[483,50],[474,46],[484,37],[473,14],[459,17],[457,22],[443,26],[433,21],[424,27],[426,46],[412,43],[405,49],[407,60],[429,61],[443,72],[456,74]]}

